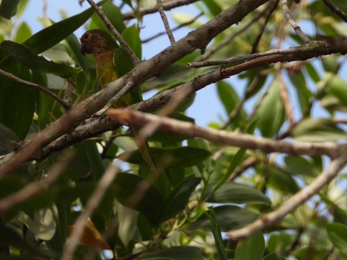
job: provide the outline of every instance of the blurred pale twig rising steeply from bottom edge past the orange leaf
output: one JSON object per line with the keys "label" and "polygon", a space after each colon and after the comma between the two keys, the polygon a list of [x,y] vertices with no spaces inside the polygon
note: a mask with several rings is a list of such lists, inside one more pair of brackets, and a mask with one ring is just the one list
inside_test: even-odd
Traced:
{"label": "blurred pale twig rising steeply from bottom edge past the orange leaf", "polygon": [[[88,1],[88,0],[87,0]],[[105,173],[102,175],[98,185],[96,185],[94,193],[89,198],[84,211],[78,216],[75,221],[75,228],[71,232],[69,243],[66,244],[64,254],[61,260],[71,259],[76,245],[78,244],[78,237],[81,236],[84,228],[84,223],[88,217],[90,217],[94,210],[98,207],[101,199],[103,198],[108,187],[113,183],[116,175],[118,173],[118,166],[110,165]]]}

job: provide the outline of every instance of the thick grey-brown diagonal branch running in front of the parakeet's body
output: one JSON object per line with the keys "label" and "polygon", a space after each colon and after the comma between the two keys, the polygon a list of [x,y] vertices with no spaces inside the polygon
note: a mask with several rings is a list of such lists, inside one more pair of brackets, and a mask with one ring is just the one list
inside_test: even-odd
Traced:
{"label": "thick grey-brown diagonal branch running in front of the parakeet's body", "polygon": [[12,151],[0,161],[0,173],[8,174],[18,168],[37,151],[56,140],[58,137],[76,128],[85,119],[102,109],[107,101],[115,96],[128,81],[132,81],[129,91],[141,85],[145,80],[159,75],[177,60],[205,47],[216,35],[230,25],[243,19],[249,12],[259,7],[267,0],[243,0],[222,11],[213,19],[167,47],[153,58],[143,61],[128,74],[108,84],[98,93],[79,103],[74,109],[51,123],[40,133],[23,142],[18,150]]}

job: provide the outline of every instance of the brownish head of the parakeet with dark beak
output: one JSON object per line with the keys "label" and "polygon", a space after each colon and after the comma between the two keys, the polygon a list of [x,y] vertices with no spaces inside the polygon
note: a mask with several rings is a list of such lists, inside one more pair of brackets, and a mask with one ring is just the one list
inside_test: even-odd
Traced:
{"label": "brownish head of the parakeet with dark beak", "polygon": [[81,41],[79,50],[84,56],[86,53],[93,53],[94,56],[97,56],[98,54],[107,51],[113,52],[119,47],[115,39],[108,32],[102,29],[86,31],[79,40]]}

